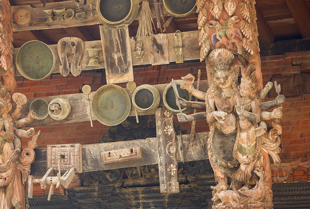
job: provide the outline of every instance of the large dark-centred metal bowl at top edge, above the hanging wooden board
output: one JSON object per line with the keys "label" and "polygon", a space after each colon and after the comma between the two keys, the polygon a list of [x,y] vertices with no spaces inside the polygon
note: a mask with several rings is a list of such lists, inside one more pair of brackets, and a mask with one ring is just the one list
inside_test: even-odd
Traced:
{"label": "large dark-centred metal bowl at top edge, above the hanging wooden board", "polygon": [[97,0],[97,16],[108,28],[119,29],[132,23],[138,15],[138,0]]}

